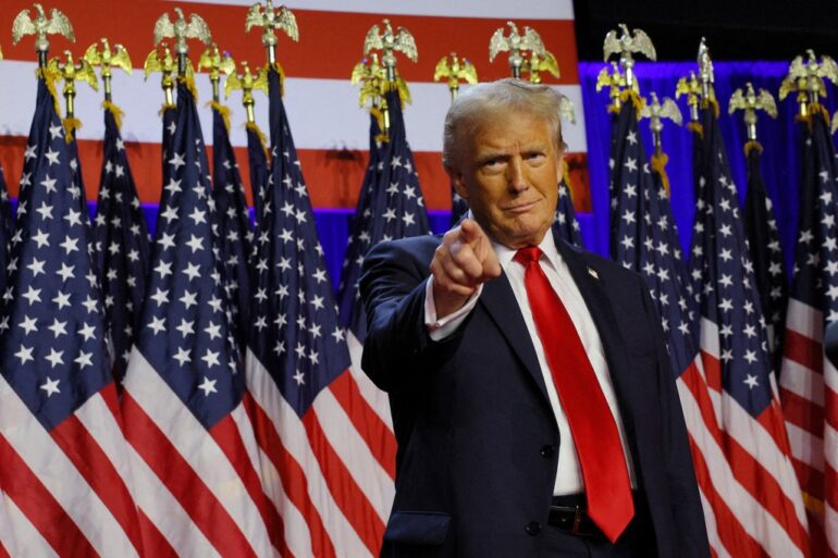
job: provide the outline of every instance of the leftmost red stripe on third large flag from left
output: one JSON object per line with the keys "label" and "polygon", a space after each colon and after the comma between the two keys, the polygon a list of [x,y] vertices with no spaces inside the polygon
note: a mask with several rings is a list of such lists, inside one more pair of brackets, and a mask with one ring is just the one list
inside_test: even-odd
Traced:
{"label": "leftmost red stripe on third large flag from left", "polygon": [[299,510],[308,523],[311,533],[311,550],[315,558],[336,558],[334,545],[329,538],[323,520],[308,494],[306,485],[306,472],[294,459],[280,438],[273,426],[271,418],[264,409],[254,399],[246,400],[249,404],[248,412],[254,421],[254,431],[262,451],[268,456],[273,467],[280,474],[282,487],[288,500]]}

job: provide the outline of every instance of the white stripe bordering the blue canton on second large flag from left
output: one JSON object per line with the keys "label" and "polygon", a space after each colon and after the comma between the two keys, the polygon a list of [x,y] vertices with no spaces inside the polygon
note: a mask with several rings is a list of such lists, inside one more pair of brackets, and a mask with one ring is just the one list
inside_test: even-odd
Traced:
{"label": "white stripe bordering the blue canton on second large flag from left", "polygon": [[125,392],[200,476],[257,555],[270,556],[267,528],[242,479],[207,430],[136,347],[125,374]]}

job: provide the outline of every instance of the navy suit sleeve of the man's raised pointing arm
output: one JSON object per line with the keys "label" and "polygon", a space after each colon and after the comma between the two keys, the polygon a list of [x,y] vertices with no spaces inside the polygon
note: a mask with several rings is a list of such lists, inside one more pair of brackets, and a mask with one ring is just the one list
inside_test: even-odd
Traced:
{"label": "navy suit sleeve of the man's raised pointing arm", "polygon": [[360,278],[368,327],[361,367],[390,393],[409,389],[433,373],[445,348],[459,338],[456,333],[441,342],[430,338],[424,297],[435,245],[415,244],[418,252],[406,249],[404,243],[379,244],[365,259]]}

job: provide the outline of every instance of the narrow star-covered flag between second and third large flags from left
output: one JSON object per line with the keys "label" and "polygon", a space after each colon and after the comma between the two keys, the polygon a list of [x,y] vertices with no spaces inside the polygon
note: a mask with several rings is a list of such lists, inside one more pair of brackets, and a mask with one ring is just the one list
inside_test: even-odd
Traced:
{"label": "narrow star-covered flag between second and third large flags from left", "polygon": [[250,270],[248,260],[254,241],[250,210],[245,201],[245,185],[230,145],[224,107],[212,107],[212,199],[219,215],[219,258],[223,262],[224,284],[233,312],[233,335],[244,348],[250,306]]}

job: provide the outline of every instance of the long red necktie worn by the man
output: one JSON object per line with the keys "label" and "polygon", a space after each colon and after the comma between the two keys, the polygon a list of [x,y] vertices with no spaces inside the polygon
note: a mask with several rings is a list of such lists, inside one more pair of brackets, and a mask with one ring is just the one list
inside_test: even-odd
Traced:
{"label": "long red necktie worn by the man", "polygon": [[515,261],[526,269],[532,318],[582,467],[588,514],[615,542],[634,516],[626,456],[576,326],[541,269],[541,249],[528,246]]}

